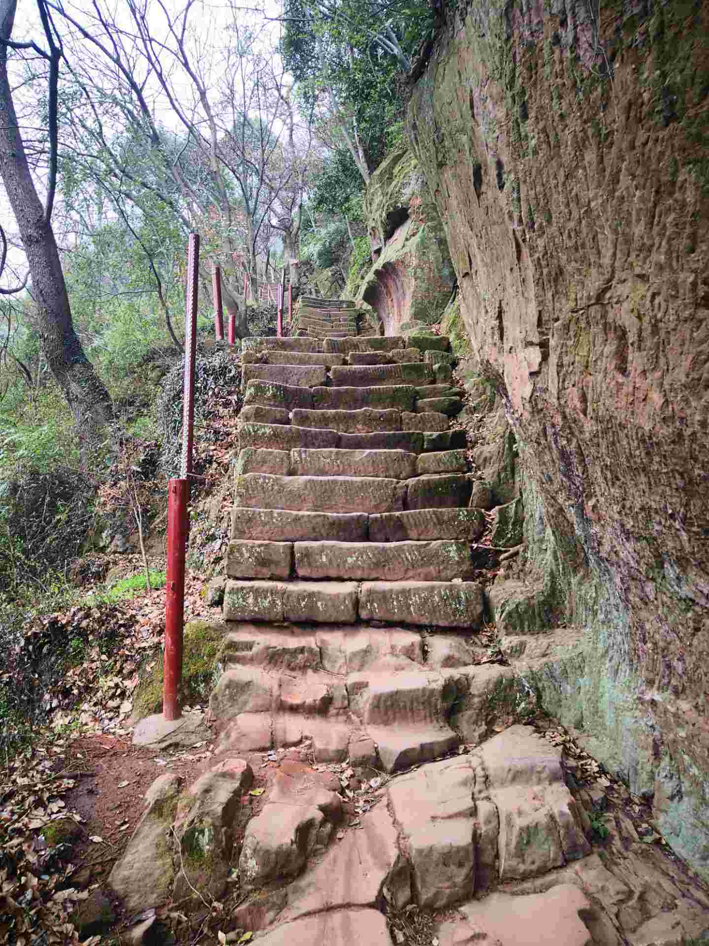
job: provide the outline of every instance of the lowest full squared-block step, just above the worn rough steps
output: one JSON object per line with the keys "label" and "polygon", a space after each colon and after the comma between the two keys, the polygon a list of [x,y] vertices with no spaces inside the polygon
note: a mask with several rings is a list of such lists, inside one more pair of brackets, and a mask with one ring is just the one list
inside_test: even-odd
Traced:
{"label": "lowest full squared-block step, just above the worn rough steps", "polygon": [[224,591],[225,621],[351,624],[357,620],[476,630],[476,582],[234,581]]}

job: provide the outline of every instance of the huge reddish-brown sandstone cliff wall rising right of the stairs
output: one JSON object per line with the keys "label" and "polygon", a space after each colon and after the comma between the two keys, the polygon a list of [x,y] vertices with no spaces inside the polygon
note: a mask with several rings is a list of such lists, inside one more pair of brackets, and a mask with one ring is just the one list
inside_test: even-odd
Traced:
{"label": "huge reddish-brown sandstone cliff wall rising right of the stairs", "polygon": [[533,593],[498,623],[583,626],[530,678],[705,876],[708,37],[700,2],[471,0],[409,111],[524,467]]}

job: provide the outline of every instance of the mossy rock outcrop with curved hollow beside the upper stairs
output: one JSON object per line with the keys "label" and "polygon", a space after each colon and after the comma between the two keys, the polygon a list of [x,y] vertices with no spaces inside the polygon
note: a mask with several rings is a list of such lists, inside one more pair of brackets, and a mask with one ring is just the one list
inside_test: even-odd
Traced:
{"label": "mossy rock outcrop with curved hollow beside the upper stairs", "polygon": [[455,283],[441,218],[414,155],[394,151],[365,193],[372,268],[357,300],[369,303],[385,334],[441,320]]}

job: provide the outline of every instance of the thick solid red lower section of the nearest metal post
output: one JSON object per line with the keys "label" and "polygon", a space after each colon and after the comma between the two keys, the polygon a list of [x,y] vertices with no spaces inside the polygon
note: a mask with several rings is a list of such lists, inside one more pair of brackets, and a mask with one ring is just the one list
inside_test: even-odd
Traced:
{"label": "thick solid red lower section of the nearest metal post", "polygon": [[163,716],[180,719],[182,633],[184,630],[184,554],[187,544],[186,480],[167,484],[167,580],[165,582]]}

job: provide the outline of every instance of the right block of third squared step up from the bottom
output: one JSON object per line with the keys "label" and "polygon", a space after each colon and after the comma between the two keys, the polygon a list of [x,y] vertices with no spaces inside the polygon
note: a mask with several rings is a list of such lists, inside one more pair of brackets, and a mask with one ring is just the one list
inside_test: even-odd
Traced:
{"label": "right block of third squared step up from the bottom", "polygon": [[485,517],[481,509],[415,509],[369,517],[372,542],[443,538],[475,542],[484,528]]}

